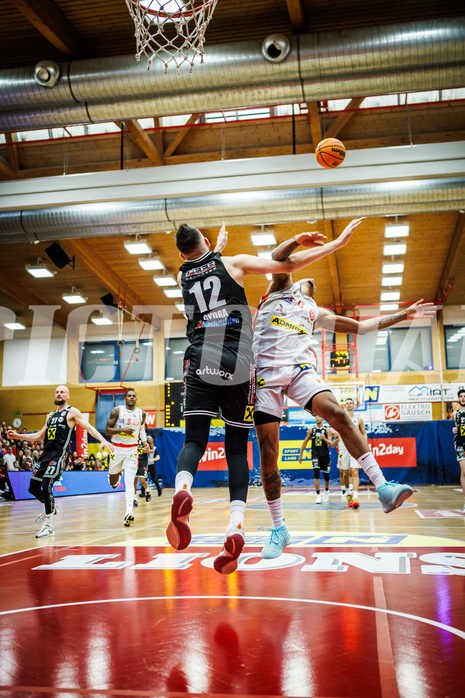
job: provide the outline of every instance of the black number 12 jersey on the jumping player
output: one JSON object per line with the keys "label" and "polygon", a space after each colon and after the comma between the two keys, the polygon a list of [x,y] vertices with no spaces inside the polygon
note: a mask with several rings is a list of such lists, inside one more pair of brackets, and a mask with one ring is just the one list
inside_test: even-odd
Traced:
{"label": "black number 12 jersey on the jumping player", "polygon": [[186,261],[180,271],[190,342],[186,358],[202,356],[207,373],[222,371],[221,378],[231,379],[236,363],[253,363],[252,315],[245,291],[228,274],[219,252]]}

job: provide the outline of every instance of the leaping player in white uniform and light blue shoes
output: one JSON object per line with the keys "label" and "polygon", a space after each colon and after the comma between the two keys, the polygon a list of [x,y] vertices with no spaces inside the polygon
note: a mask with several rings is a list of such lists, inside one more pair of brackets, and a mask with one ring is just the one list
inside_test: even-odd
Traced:
{"label": "leaping player in white uniform and light blue shoes", "polygon": [[[355,229],[362,220],[351,221],[346,230]],[[272,257],[286,259],[297,246],[295,238],[288,240],[274,250]],[[260,447],[261,479],[273,521],[271,540],[262,550],[264,558],[278,557],[291,540],[283,519],[278,468],[279,424],[285,395],[309,412],[320,415],[341,435],[349,453],[375,485],[386,513],[413,494],[408,485],[386,482],[366,437],[355,428],[329,387],[318,376],[315,356],[309,345],[314,327],[365,334],[415,316],[433,317],[436,307],[418,301],[395,315],[359,322],[318,308],[313,300],[314,292],[313,279],[293,284],[290,274],[273,274],[268,293],[259,304],[255,322],[257,397],[254,421]]]}

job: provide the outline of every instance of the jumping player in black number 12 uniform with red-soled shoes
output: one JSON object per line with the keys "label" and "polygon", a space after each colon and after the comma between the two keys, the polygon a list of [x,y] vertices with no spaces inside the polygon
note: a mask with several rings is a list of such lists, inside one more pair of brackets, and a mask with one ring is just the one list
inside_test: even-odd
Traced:
{"label": "jumping player in black number 12 uniform with red-soled shoes", "polygon": [[341,240],[324,245],[321,233],[301,233],[298,244],[314,247],[276,261],[239,254],[221,257],[225,226],[214,252],[202,233],[182,225],[176,246],[184,260],[178,275],[186,308],[187,337],[184,357],[185,445],[178,456],[171,522],[166,530],[176,550],[189,545],[188,524],[193,499],[190,488],[207,447],[210,420],[221,409],[226,424],[225,452],[229,472],[231,518],[224,548],[214,566],[229,574],[237,568],[244,546],[243,522],[249,483],[248,430],[253,423],[255,371],[252,319],[244,292],[246,274],[290,273],[338,249]]}

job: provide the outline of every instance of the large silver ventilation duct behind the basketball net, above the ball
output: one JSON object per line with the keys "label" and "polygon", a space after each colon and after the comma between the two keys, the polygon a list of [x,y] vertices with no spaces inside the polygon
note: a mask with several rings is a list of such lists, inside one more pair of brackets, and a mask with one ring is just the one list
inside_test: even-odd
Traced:
{"label": "large silver ventilation duct behind the basketball net, above the ball", "polygon": [[465,18],[294,36],[281,63],[261,41],[207,44],[205,64],[179,76],[133,55],[60,68],[53,88],[34,66],[0,71],[1,131],[463,87]]}

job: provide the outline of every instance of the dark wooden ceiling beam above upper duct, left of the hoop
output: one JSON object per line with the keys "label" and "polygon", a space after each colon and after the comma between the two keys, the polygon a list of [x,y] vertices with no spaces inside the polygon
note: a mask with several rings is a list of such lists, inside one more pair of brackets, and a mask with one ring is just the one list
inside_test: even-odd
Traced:
{"label": "dark wooden ceiling beam above upper duct, left of the hoop", "polygon": [[15,6],[45,38],[66,56],[92,52],[53,0],[15,0]]}

